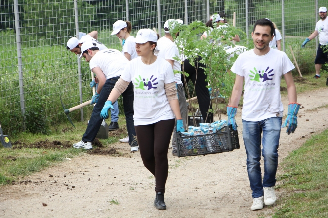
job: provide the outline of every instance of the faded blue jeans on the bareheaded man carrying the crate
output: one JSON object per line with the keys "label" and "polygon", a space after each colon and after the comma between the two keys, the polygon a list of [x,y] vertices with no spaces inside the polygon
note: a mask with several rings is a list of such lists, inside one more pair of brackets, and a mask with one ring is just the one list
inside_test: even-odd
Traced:
{"label": "faded blue jeans on the bareheaded man carrying the crate", "polygon": [[[253,198],[263,196],[263,187],[273,187],[276,184],[281,123],[281,117],[273,117],[258,122],[243,120],[247,171]],[[263,134],[262,139],[261,134]],[[260,167],[261,140],[263,146],[262,156],[264,158],[263,183]]]}

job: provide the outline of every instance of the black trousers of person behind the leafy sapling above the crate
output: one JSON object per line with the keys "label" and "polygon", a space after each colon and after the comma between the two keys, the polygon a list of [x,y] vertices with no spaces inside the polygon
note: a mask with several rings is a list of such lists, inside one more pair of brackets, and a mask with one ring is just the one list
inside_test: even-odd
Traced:
{"label": "black trousers of person behind the leafy sapling above the crate", "polygon": [[188,73],[189,76],[186,77],[182,74],[181,80],[183,86],[185,86],[191,79],[195,86],[198,105],[199,109],[201,110],[203,120],[206,123],[212,123],[214,121],[213,113],[209,113],[207,116],[208,110],[212,109],[211,98],[208,92],[208,88],[206,87],[208,85],[208,82],[205,81],[207,79],[207,76],[204,74],[204,69],[200,68],[205,68],[206,66],[204,64],[199,63],[199,60],[202,60],[200,56],[195,60],[195,67],[193,67],[189,63],[188,59],[184,61],[183,66],[181,66],[181,70],[183,67],[183,70]]}

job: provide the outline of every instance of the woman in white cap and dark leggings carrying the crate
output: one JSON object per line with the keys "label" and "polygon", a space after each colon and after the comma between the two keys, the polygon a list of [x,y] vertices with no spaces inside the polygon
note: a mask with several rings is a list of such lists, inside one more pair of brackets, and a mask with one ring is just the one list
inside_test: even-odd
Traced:
{"label": "woman in white cap and dark leggings carrying the crate", "polygon": [[167,152],[175,118],[177,131],[184,132],[172,66],[154,54],[158,35],[141,29],[134,39],[138,58],[127,63],[124,73],[108,97],[101,117],[108,117],[112,102],[127,85],[134,84],[134,127],[145,167],[155,176],[154,206],[166,210],[165,184],[168,175]]}

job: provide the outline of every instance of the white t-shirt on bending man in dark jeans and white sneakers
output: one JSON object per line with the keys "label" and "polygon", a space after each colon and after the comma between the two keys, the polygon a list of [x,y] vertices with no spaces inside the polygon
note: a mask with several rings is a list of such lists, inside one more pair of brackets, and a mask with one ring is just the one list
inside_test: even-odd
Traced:
{"label": "white t-shirt on bending man in dark jeans and white sneakers", "polygon": [[129,61],[116,49],[98,51],[90,60],[90,69],[99,67],[105,74],[106,79],[120,76]]}

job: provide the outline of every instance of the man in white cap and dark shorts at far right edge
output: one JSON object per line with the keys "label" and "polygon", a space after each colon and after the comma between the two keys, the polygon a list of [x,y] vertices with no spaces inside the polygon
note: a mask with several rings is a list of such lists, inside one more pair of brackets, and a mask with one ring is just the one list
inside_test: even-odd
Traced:
{"label": "man in white cap and dark shorts at far right edge", "polygon": [[[316,24],[315,31],[305,39],[305,41],[302,43],[302,48],[305,47],[306,43],[308,43],[310,40],[314,39],[316,36],[319,35],[319,46],[317,49],[317,56],[314,60],[315,68],[316,68],[316,75],[314,78],[319,79],[320,78],[320,69],[321,66],[328,62],[328,19],[327,18],[327,8],[326,7],[320,7],[319,8],[319,16],[320,20]],[[326,52],[325,52],[326,50]]]}

